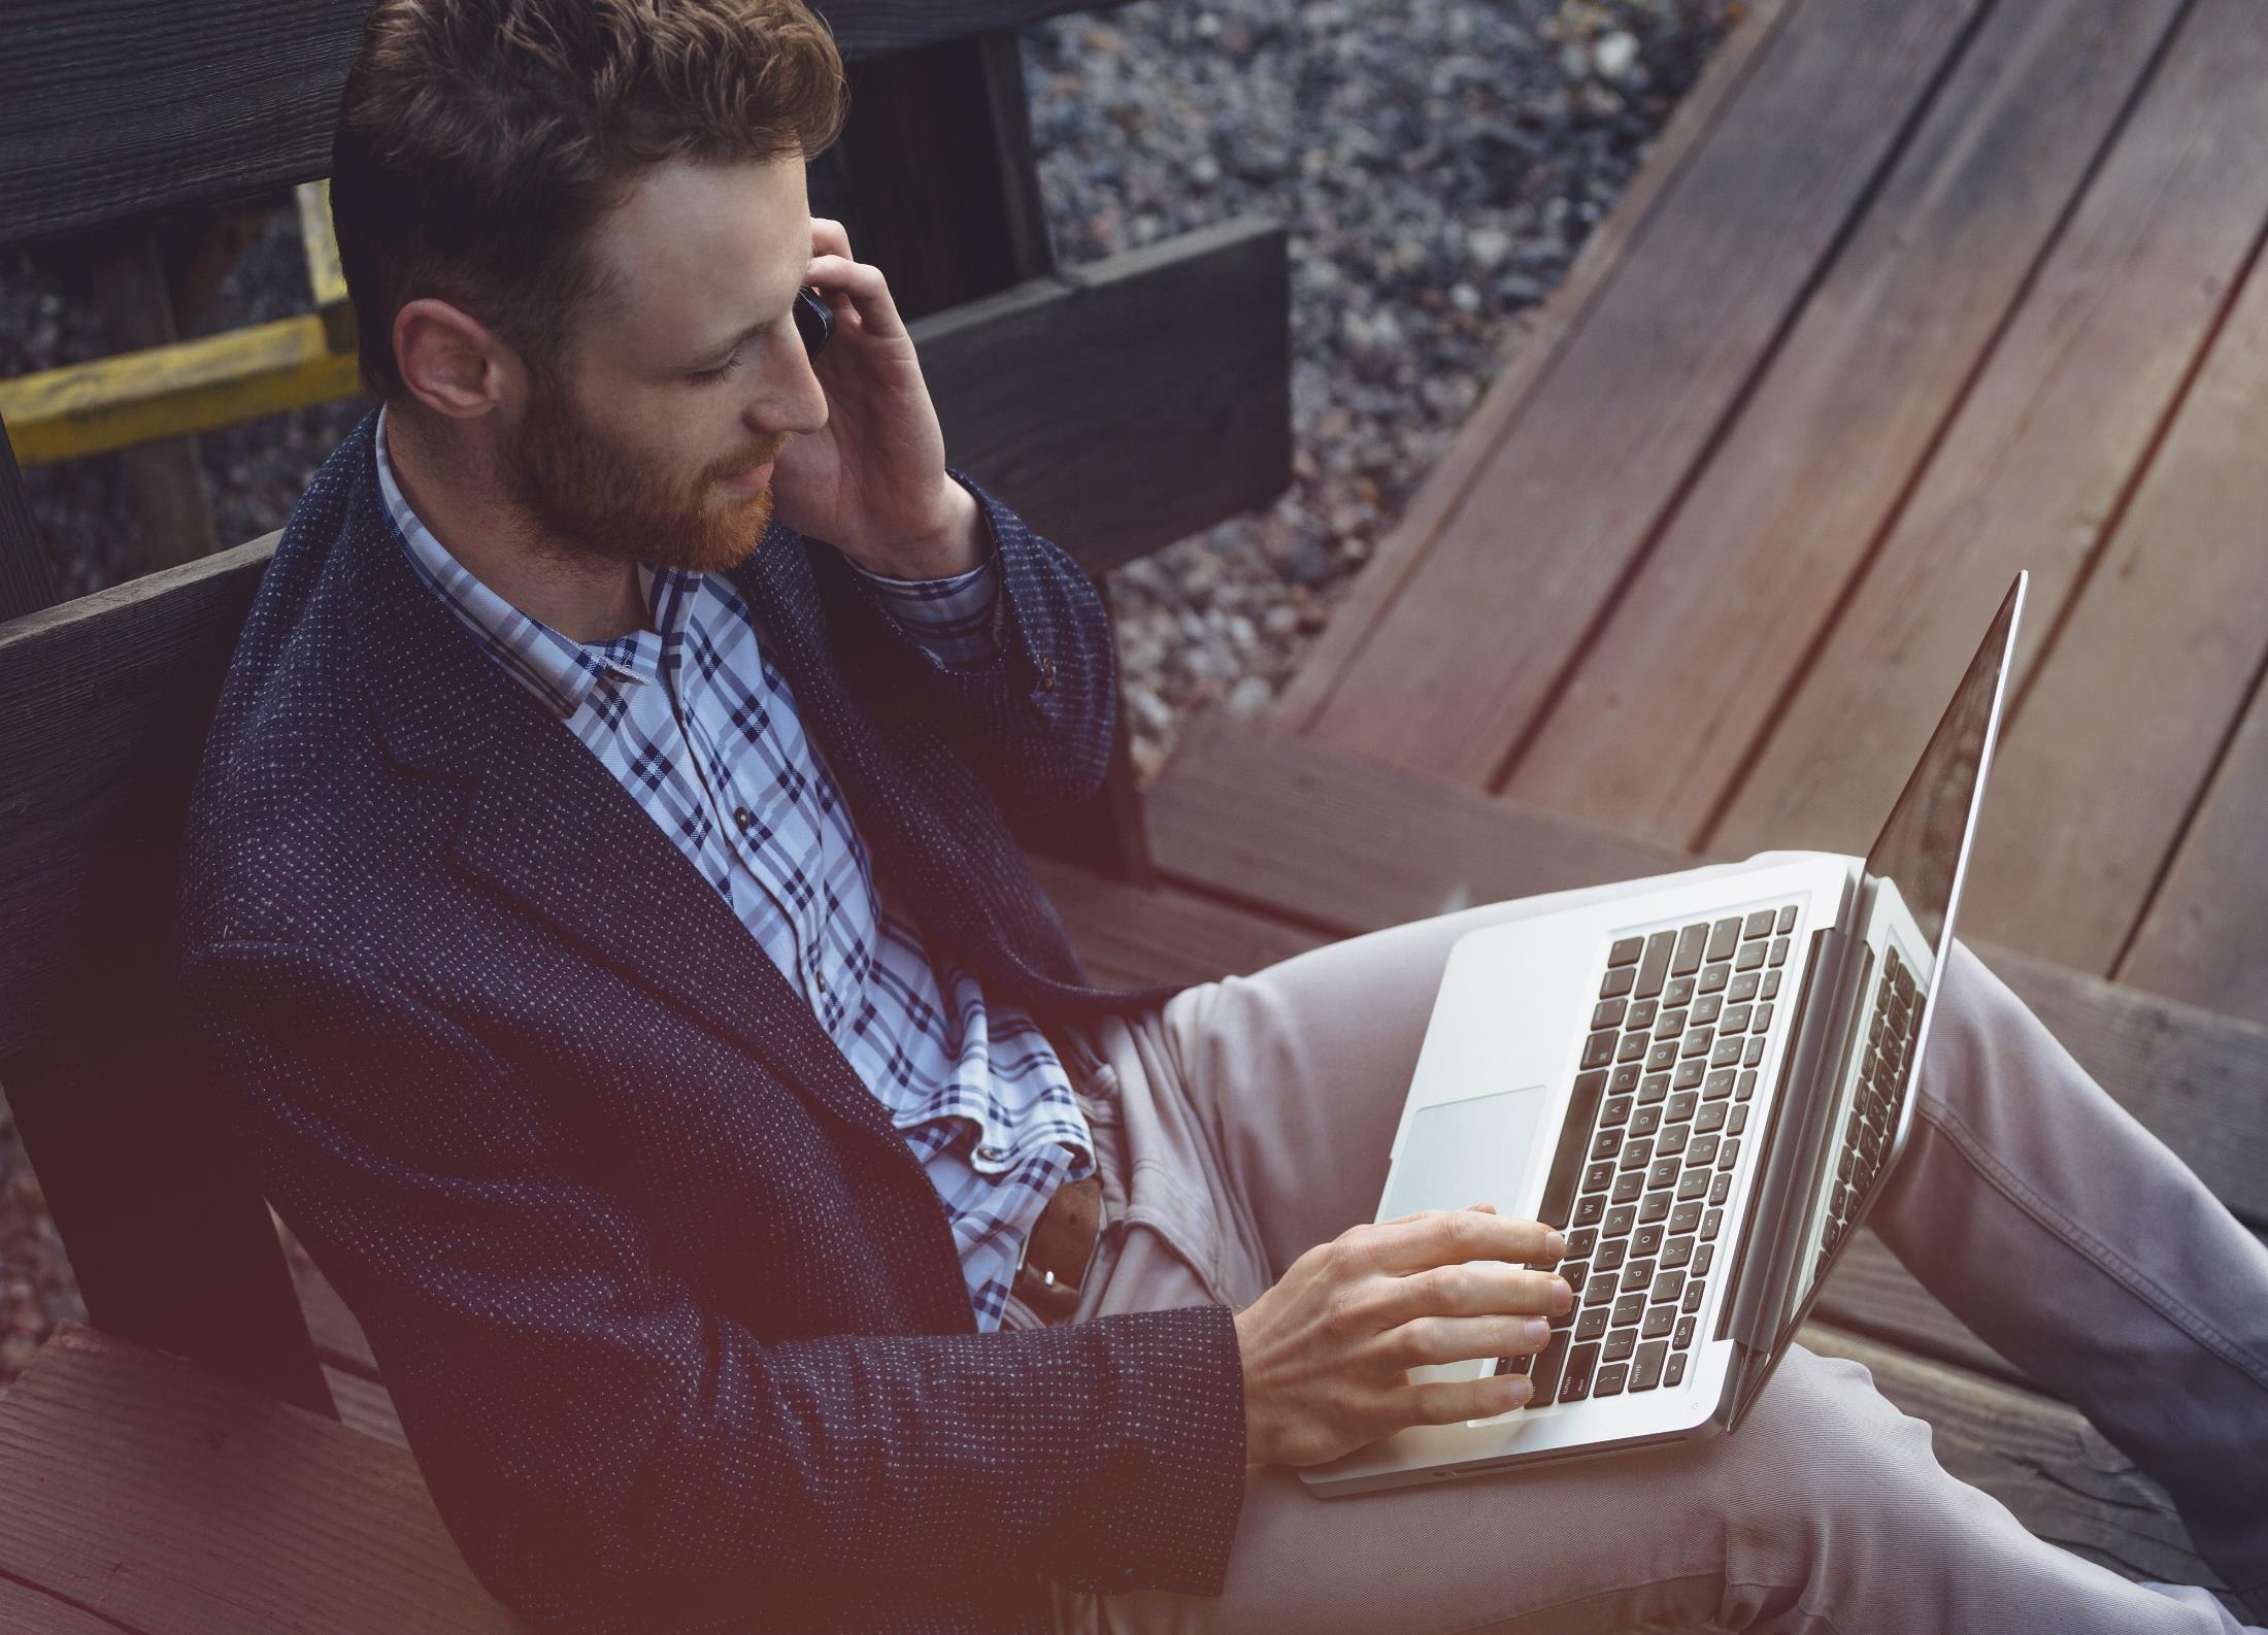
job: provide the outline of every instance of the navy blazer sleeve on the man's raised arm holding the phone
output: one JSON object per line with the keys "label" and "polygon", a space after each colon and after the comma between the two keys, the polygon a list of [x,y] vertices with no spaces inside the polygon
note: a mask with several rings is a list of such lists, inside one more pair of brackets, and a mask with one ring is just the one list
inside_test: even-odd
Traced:
{"label": "navy blazer sleeve on the man's raised arm holding the phone", "polygon": [[841,551],[814,542],[821,594],[850,633],[848,680],[871,708],[912,712],[953,744],[1002,812],[1068,810],[1109,769],[1118,710],[1109,612],[1068,551],[1032,533],[966,472],[948,474],[975,494],[998,562],[991,658],[948,664]]}

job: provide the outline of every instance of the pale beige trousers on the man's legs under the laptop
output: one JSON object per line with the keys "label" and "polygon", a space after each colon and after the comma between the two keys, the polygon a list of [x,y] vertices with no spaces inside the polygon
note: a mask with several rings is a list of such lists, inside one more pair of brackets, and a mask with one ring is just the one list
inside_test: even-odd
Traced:
{"label": "pale beige trousers on the man's legs under the laptop", "polygon": [[[1370,1220],[1449,943],[1649,884],[1445,914],[1068,1030],[1111,1209],[1070,1320],[1245,1306]],[[1960,946],[1919,1095],[1871,1225],[2168,1485],[2261,1619],[2268,1252]],[[1057,1587],[1055,1619],[1145,1635],[2239,1628],[2204,1592],[2032,1537],[1939,1467],[1928,1424],[1862,1365],[1803,1347],[1733,1435],[1345,1499],[1259,1469],[1225,1594]]]}

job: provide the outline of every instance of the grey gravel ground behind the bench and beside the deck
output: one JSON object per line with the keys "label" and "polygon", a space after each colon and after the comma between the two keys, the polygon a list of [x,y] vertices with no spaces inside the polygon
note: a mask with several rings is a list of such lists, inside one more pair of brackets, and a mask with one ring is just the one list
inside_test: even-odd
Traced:
{"label": "grey gravel ground behind the bench and beside the deck", "polygon": [[[1290,231],[1293,488],[1111,578],[1148,778],[1179,723],[1256,712],[1567,272],[1740,0],[1141,0],[1027,27],[1057,261],[1268,213]],[[279,200],[184,333],[306,311]],[[0,379],[107,351],[84,293],[0,254]],[[204,433],[225,544],[279,528],[367,401]],[[118,456],[25,472],[66,594],[127,576]],[[0,1127],[0,1381],[84,1318]]]}

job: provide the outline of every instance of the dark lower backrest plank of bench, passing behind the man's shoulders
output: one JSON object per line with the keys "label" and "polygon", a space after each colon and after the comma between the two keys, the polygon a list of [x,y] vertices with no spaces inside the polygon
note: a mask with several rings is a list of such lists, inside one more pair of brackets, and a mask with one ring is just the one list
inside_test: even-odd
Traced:
{"label": "dark lower backrest plank of bench, passing behind the man's shoulders", "polygon": [[[912,331],[955,463],[1098,569],[1284,485],[1284,229],[1238,220]],[[1250,333],[1261,317],[1275,333]],[[1161,345],[1173,327],[1179,340]],[[1184,342],[1204,367],[1184,367]],[[1093,392],[1098,379],[1114,390]],[[1127,506],[1132,492],[1157,501]],[[274,537],[0,626],[0,1054],[41,1036],[73,991],[113,846],[170,857]]]}

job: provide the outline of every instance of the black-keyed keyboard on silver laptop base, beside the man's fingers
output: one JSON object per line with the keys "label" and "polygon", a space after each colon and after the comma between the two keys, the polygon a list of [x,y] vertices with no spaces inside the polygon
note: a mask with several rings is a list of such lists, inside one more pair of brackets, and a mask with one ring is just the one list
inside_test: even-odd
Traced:
{"label": "black-keyed keyboard on silver laptop base, beside the man's fingers", "polygon": [[1574,1308],[1533,1358],[1497,1358],[1529,1408],[1685,1379],[1794,925],[1789,903],[1608,950],[1538,1211],[1567,1222]]}

